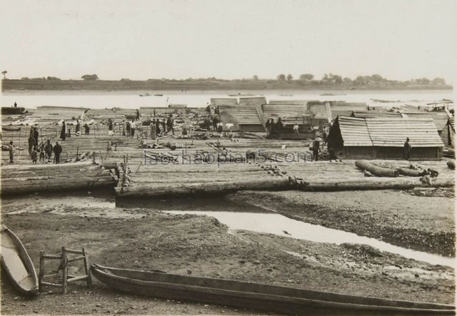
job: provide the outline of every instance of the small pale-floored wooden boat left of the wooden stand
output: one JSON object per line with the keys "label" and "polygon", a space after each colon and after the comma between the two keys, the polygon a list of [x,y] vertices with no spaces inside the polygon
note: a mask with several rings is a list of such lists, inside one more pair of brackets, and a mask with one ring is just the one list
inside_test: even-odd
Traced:
{"label": "small pale-floored wooden boat left of the wooden stand", "polygon": [[9,280],[24,295],[35,295],[38,277],[21,240],[6,226],[1,227],[1,267]]}

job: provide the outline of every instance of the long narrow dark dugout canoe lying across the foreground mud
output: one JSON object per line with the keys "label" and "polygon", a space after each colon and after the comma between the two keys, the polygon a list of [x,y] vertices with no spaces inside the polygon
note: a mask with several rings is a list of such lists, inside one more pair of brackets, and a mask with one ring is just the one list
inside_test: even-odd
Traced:
{"label": "long narrow dark dugout canoe lying across the foreground mud", "polygon": [[455,307],[301,290],[235,280],[145,272],[101,265],[92,275],[116,290],[174,300],[294,315],[455,315]]}

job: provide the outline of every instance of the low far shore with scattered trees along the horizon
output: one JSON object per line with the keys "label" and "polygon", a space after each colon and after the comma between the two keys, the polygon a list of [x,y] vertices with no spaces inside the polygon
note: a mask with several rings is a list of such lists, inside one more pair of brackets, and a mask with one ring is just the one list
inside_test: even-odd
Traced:
{"label": "low far shore with scattered trees along the horizon", "polygon": [[291,74],[280,74],[276,79],[258,76],[247,79],[218,78],[149,79],[146,81],[122,78],[119,81],[100,80],[96,74],[84,75],[82,80],[61,80],[56,77],[3,79],[2,91],[9,90],[393,90],[393,89],[451,89],[443,78],[416,78],[408,81],[388,80],[378,74],[357,76],[354,79],[326,73],[316,79],[304,73],[294,79]]}

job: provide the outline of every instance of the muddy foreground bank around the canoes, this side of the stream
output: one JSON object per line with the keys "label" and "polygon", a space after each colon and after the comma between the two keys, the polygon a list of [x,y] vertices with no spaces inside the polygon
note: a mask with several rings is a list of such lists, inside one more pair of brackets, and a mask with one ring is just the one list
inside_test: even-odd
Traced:
{"label": "muddy foreground bank around the canoes, this side of the stream", "polygon": [[[85,247],[91,263],[114,267],[453,303],[454,272],[450,267],[428,265],[361,245],[233,232],[206,216],[168,215],[145,208],[114,209],[103,204],[84,206],[71,200],[68,205],[53,205],[41,199],[30,195],[8,200],[2,208],[2,222],[21,238],[36,267],[40,250],[57,253],[61,245],[66,245]],[[26,205],[36,213],[6,214]],[[71,269],[79,271],[76,265]],[[5,315],[261,313],[125,295],[112,292],[100,282],[94,282],[91,289],[71,285],[65,296],[51,289],[53,294],[41,294],[34,300],[21,298],[4,279],[1,288],[1,312]]]}

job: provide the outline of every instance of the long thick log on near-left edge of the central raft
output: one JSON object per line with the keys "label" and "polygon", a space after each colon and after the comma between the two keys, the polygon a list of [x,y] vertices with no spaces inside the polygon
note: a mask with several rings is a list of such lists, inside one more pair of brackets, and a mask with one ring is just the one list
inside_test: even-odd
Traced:
{"label": "long thick log on near-left edge of the central raft", "polygon": [[290,190],[294,186],[291,178],[268,178],[266,180],[205,182],[205,183],[157,183],[116,188],[119,198],[157,197],[163,195],[209,195],[215,193],[233,193],[238,190]]}

